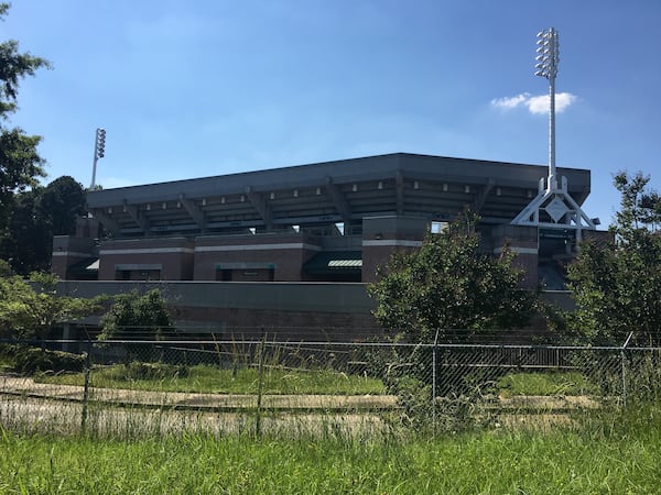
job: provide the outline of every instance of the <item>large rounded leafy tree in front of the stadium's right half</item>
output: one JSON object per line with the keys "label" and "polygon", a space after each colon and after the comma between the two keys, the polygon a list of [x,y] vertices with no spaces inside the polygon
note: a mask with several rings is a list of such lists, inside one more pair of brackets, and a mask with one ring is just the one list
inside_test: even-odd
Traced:
{"label": "large rounded leafy tree in front of the stadium's right half", "polygon": [[481,253],[474,224],[467,213],[440,234],[429,234],[420,250],[392,256],[368,288],[378,301],[375,316],[382,327],[413,342],[431,342],[436,330],[443,334],[529,321],[535,297],[520,287],[514,254]]}

